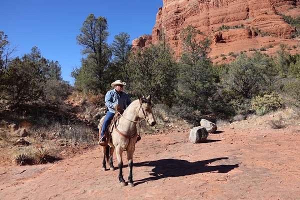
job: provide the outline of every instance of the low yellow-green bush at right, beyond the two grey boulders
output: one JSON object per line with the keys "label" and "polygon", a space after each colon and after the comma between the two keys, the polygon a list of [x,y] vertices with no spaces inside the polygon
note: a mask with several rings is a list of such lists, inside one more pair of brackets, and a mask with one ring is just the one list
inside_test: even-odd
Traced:
{"label": "low yellow-green bush at right, beyond the two grey boulders", "polygon": [[277,93],[264,94],[251,99],[251,107],[258,115],[283,107],[283,99]]}

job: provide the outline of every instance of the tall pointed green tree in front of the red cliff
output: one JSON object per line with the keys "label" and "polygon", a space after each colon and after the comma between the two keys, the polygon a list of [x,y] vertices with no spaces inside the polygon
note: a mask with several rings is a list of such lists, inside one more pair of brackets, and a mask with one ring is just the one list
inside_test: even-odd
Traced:
{"label": "tall pointed green tree in front of the red cliff", "polygon": [[179,98],[189,107],[211,111],[211,97],[216,91],[216,74],[207,57],[210,40],[197,41],[197,31],[188,26],[181,32],[183,52],[179,63]]}

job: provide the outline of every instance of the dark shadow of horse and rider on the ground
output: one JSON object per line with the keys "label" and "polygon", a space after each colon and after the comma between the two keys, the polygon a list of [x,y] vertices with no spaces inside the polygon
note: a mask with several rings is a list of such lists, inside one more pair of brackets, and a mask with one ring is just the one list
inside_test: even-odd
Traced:
{"label": "dark shadow of horse and rider on the ground", "polygon": [[196,173],[217,171],[218,173],[227,173],[228,171],[238,167],[238,164],[220,164],[214,166],[207,166],[207,164],[228,159],[228,157],[218,157],[213,159],[189,162],[182,159],[159,159],[154,161],[144,161],[134,163],[134,166],[154,166],[151,176],[140,180],[135,180],[135,185],[141,184],[150,180],[158,180],[166,177],[178,177],[185,175],[192,175]]}

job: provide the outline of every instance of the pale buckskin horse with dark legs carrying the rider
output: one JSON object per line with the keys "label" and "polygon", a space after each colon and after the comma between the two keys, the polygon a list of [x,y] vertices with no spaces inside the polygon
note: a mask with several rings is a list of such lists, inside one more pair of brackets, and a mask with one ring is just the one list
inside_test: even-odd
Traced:
{"label": "pale buckskin horse with dark legs carrying the rider", "polygon": [[[117,115],[120,117],[117,119]],[[103,116],[99,122],[99,139],[102,122],[104,120]],[[149,126],[155,125],[155,119],[152,114],[152,104],[151,104],[151,95],[148,97],[141,97],[137,100],[132,101],[129,106],[124,110],[123,114],[119,112],[115,113],[115,118],[112,119],[112,127],[109,128],[111,131],[111,135],[107,134],[106,137],[106,145],[103,146],[103,170],[106,170],[106,161],[109,161],[110,170],[114,170],[112,163],[112,153],[115,149],[118,168],[119,168],[119,181],[122,186],[126,185],[126,182],[123,178],[122,168],[122,153],[124,149],[127,152],[127,160],[128,160],[128,185],[130,187],[134,186],[132,180],[132,166],[133,166],[133,153],[135,150],[135,143],[138,137],[136,124],[140,123],[141,120],[145,120]]]}

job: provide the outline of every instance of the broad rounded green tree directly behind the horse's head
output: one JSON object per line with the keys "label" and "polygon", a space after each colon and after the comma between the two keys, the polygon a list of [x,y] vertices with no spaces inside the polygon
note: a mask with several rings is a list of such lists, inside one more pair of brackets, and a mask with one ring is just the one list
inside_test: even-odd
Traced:
{"label": "broad rounded green tree directly behind the horse's head", "polygon": [[177,64],[168,45],[159,43],[132,52],[126,70],[134,96],[152,94],[156,102],[171,105],[176,88]]}

